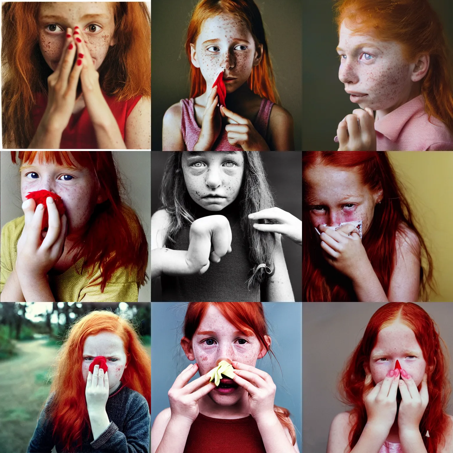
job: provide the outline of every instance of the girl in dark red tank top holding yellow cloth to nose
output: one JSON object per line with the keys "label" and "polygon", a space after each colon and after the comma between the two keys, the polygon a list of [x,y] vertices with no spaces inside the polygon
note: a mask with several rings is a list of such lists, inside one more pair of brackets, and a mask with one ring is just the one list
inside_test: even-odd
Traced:
{"label": "girl in dark red tank top holding yellow cloth to nose", "polygon": [[[181,347],[197,363],[169,390],[170,407],[151,429],[151,453],[212,451],[219,432],[222,451],[299,452],[289,410],[274,405],[272,377],[255,368],[270,343],[260,303],[188,304]],[[222,360],[235,368],[232,380],[221,381],[234,389],[228,394],[207,378]],[[201,377],[186,385],[197,371]]]}

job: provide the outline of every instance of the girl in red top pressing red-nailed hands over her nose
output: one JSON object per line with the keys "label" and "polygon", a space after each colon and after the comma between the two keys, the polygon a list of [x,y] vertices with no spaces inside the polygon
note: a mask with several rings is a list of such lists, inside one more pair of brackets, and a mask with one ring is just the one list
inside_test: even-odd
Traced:
{"label": "girl in red top pressing red-nailed hands over her nose", "polygon": [[150,149],[150,27],[144,2],[5,2],[3,146]]}

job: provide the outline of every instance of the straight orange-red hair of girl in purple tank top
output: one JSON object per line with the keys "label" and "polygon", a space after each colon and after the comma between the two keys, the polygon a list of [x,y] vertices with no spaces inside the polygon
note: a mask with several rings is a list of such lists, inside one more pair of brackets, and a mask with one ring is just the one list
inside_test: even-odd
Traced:
{"label": "straight orange-red hair of girl in purple tank top", "polygon": [[274,72],[270,61],[263,20],[261,19],[260,10],[253,0],[200,0],[195,6],[187,29],[185,43],[186,55],[190,64],[190,97],[200,96],[206,91],[206,81],[200,68],[192,64],[190,44],[196,44],[203,22],[206,19],[222,13],[231,14],[246,25],[253,36],[256,49],[258,44],[263,44],[263,57],[260,64],[252,68],[251,75],[247,81],[248,87],[255,94],[272,102],[280,103],[280,97],[275,87]]}

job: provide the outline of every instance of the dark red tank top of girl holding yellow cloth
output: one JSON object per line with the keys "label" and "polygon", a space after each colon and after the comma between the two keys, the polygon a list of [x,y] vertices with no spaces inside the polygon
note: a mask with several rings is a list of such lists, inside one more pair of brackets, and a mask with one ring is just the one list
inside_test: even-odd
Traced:
{"label": "dark red tank top of girl holding yellow cloth", "polygon": [[184,453],[266,453],[255,419],[213,419],[203,414],[190,427]]}

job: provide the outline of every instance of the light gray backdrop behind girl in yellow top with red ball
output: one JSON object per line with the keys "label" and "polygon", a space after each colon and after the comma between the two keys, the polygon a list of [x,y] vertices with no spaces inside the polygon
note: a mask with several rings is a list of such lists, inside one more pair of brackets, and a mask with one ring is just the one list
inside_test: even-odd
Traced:
{"label": "light gray backdrop behind girl in yellow top with red ball", "polygon": [[[140,217],[146,240],[148,241],[148,265],[146,273],[151,276],[151,204],[149,193],[151,192],[151,180],[149,168],[151,166],[150,151],[112,151],[121,178],[125,183],[129,200],[126,203],[135,209]],[[10,151],[1,151],[1,206],[0,226],[24,215],[22,211],[22,198],[20,197],[20,178],[18,174],[20,160],[17,158],[15,165],[11,161]],[[138,302],[149,302],[151,300],[151,284],[140,286]]]}

